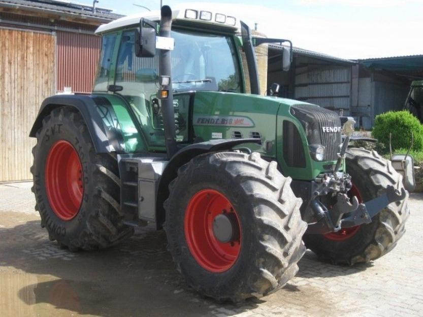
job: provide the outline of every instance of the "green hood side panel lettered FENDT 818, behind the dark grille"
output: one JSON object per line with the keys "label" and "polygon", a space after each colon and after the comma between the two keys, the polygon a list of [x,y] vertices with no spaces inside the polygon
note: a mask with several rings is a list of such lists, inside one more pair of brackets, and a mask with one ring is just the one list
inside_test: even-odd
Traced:
{"label": "green hood side panel lettered FENDT 818, behind the dark grille", "polygon": [[197,91],[192,125],[198,141],[218,138],[260,138],[253,151],[276,157],[277,116],[296,100],[244,93]]}

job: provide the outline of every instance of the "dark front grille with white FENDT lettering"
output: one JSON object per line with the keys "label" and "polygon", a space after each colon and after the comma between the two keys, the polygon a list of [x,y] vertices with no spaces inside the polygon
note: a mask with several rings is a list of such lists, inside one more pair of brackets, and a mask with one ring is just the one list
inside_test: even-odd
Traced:
{"label": "dark front grille with white FENDT lettering", "polygon": [[[324,146],[326,149],[324,160],[336,161],[341,144],[341,120],[339,116],[333,111],[313,104],[292,106],[290,112],[303,125],[308,144]],[[339,128],[339,131],[330,132],[330,128]]]}

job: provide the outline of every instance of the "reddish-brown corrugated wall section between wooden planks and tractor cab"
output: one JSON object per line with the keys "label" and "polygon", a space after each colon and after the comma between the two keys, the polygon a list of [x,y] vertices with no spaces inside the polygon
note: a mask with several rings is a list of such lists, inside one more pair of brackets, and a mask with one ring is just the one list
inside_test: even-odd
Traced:
{"label": "reddish-brown corrugated wall section between wooden planks and tractor cab", "polygon": [[91,92],[100,49],[98,36],[57,32],[57,91]]}

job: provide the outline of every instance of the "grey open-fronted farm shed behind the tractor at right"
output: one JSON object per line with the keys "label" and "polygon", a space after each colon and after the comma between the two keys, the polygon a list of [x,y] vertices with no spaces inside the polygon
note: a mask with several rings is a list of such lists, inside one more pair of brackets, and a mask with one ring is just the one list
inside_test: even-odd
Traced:
{"label": "grey open-fronted farm shed behind the tractor at right", "polygon": [[315,103],[353,116],[370,129],[376,115],[404,107],[410,84],[423,79],[423,55],[348,60],[294,48],[289,72],[282,72],[280,45],[269,45],[268,84],[280,96]]}

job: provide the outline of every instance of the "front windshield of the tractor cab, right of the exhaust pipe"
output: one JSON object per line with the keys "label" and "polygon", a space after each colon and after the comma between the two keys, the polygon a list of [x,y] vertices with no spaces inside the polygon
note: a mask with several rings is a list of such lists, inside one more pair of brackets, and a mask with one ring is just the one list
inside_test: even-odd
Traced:
{"label": "front windshield of the tractor cab, right of the exhaust pipe", "polygon": [[237,53],[230,37],[173,31],[172,77],[175,92],[241,92]]}

